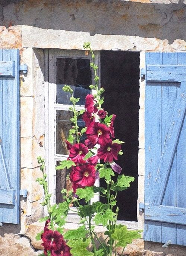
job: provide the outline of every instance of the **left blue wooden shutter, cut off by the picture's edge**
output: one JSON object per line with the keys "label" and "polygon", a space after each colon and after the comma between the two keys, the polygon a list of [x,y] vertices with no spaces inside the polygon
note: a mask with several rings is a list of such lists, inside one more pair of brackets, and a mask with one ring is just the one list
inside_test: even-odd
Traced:
{"label": "left blue wooden shutter, cut off by the picture's edge", "polygon": [[19,50],[0,50],[0,222],[19,223]]}

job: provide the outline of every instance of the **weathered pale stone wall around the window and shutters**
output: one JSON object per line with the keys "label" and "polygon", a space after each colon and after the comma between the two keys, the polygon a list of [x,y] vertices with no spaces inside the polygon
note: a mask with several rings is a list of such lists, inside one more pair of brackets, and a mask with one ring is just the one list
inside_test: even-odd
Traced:
{"label": "weathered pale stone wall around the window and shutters", "polygon": [[[183,0],[0,1],[0,48],[20,49],[21,64],[28,65],[20,78],[21,188],[28,197],[21,200],[21,224],[0,227],[0,255],[38,255],[41,250],[35,234],[43,227],[38,222],[44,215],[43,191],[35,179],[41,175],[36,158],[45,156],[44,49],[83,49],[83,42],[90,41],[94,50],[140,51],[144,68],[146,51],[185,50],[184,8]],[[144,201],[144,101],[140,79],[138,203]],[[138,211],[139,229],[143,223]],[[184,256],[186,250],[138,239],[124,253]]]}

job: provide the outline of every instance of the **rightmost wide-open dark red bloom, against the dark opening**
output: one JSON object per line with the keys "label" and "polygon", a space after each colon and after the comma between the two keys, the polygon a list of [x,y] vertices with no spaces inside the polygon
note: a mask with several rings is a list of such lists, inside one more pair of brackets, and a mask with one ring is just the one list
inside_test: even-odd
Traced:
{"label": "rightmost wide-open dark red bloom, against the dark opening", "polygon": [[121,150],[121,144],[112,143],[110,139],[108,144],[98,148],[98,157],[105,162],[111,162],[113,159],[117,160],[117,153]]}

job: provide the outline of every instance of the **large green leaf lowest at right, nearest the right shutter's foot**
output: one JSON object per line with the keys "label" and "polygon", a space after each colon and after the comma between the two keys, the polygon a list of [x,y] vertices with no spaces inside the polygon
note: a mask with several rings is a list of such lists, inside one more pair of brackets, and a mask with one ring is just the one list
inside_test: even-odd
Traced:
{"label": "large green leaf lowest at right, nearest the right shutter's foot", "polygon": [[126,226],[117,225],[112,234],[112,238],[116,241],[116,246],[126,247],[132,243],[133,239],[141,238],[142,230],[128,230]]}

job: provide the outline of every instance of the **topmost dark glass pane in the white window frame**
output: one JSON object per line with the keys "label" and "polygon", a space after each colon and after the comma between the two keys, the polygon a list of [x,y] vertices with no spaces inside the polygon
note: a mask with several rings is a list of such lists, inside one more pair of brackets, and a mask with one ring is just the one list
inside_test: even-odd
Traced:
{"label": "topmost dark glass pane in the white window frame", "polygon": [[91,69],[89,59],[58,58],[57,96],[59,104],[71,104],[70,93],[63,92],[63,86],[70,85],[75,98],[80,98],[78,105],[85,105],[85,97],[90,93]]}

